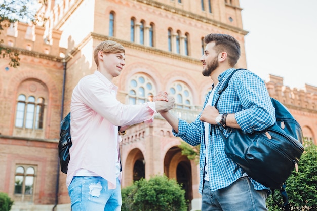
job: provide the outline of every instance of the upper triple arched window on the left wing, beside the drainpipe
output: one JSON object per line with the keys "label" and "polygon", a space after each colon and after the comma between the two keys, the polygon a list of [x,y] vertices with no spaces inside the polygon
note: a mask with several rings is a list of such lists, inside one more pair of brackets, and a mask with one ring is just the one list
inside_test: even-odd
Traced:
{"label": "upper triple arched window on the left wing, beside the drainpipe", "polygon": [[34,96],[25,95],[18,97],[15,126],[26,129],[43,129],[44,98],[40,97],[35,101]]}

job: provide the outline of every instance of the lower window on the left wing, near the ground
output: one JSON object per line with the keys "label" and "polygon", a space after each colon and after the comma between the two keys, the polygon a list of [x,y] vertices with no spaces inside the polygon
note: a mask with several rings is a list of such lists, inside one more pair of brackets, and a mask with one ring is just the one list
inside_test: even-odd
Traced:
{"label": "lower window on the left wing, near the ground", "polygon": [[[25,171],[26,169],[26,171]],[[14,194],[31,195],[34,190],[35,168],[20,165],[16,168],[14,179]]]}

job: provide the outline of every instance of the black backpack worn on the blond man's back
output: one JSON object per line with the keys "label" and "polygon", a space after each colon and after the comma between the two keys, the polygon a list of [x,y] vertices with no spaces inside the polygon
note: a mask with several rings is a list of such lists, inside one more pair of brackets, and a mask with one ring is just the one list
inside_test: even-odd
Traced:
{"label": "black backpack worn on the blond man's back", "polygon": [[65,116],[61,122],[61,132],[58,143],[58,157],[61,166],[61,171],[67,174],[69,163],[69,148],[71,147],[70,137],[70,112]]}

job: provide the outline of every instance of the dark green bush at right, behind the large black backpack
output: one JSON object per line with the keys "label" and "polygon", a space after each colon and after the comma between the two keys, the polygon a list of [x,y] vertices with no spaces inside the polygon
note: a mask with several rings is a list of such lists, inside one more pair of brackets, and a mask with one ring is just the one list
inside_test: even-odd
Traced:
{"label": "dark green bush at right, behind the large black backpack", "polygon": [[[293,171],[287,179],[286,192],[292,210],[317,210],[317,146],[305,141],[305,152],[298,162],[298,172]],[[281,201],[280,192],[274,195]],[[282,202],[281,202],[282,203]],[[269,211],[282,210],[273,202],[270,195],[266,201]]]}

